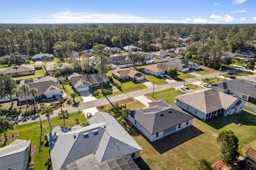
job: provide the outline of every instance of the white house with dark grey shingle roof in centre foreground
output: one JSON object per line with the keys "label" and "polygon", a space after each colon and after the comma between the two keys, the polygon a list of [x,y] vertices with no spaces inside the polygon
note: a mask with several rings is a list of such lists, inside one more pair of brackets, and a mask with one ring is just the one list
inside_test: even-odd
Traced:
{"label": "white house with dark grey shingle roof in centre foreground", "polygon": [[164,100],[128,111],[129,121],[151,142],[192,125],[193,116]]}

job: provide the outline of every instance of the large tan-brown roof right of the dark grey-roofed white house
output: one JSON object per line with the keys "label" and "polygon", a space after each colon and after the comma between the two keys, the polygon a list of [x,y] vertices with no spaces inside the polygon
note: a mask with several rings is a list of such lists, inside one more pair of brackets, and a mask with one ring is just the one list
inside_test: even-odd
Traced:
{"label": "large tan-brown roof right of the dark grey-roofed white house", "polygon": [[179,95],[176,99],[202,111],[204,114],[222,108],[227,109],[237,100],[234,96],[213,89],[203,89],[193,93]]}

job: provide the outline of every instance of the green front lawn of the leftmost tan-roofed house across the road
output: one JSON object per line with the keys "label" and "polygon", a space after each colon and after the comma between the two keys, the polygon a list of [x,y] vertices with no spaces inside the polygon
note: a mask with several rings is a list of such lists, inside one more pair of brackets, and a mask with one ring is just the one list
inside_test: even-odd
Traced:
{"label": "green front lawn of the leftmost tan-roofed house across the road", "polygon": [[[111,70],[107,72],[107,75],[112,77]],[[142,83],[134,83],[131,81],[121,83],[121,82],[119,82],[119,80],[115,79],[114,77],[113,77],[113,80],[116,84],[118,84],[119,86],[122,87],[122,91],[125,93],[129,93],[129,92],[147,88],[147,86],[145,86]]]}

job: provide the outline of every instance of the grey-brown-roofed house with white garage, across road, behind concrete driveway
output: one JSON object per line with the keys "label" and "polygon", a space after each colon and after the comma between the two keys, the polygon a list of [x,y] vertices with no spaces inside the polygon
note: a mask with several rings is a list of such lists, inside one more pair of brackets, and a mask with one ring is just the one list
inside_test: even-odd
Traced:
{"label": "grey-brown-roofed house with white garage, across road, behind concrete driveway", "polygon": [[[73,86],[77,92],[82,92],[99,87],[101,85],[101,74],[94,73],[90,75],[81,75],[74,72],[68,76],[68,80],[71,86]],[[103,84],[106,85],[108,82],[108,76],[103,74]]]}

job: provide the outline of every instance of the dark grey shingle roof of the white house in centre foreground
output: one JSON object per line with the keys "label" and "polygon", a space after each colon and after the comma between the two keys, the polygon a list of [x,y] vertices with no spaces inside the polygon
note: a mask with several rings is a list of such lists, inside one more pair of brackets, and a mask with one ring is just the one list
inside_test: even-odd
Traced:
{"label": "dark grey shingle roof of the white house in centre foreground", "polygon": [[131,110],[129,115],[151,135],[194,118],[162,99],[148,104],[148,108]]}

